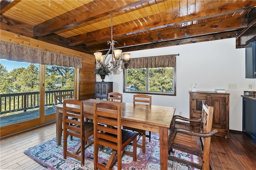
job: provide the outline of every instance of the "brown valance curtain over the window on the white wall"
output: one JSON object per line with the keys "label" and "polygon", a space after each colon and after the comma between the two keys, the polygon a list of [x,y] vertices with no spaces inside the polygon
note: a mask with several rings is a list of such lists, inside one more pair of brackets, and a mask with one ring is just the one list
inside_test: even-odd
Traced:
{"label": "brown valance curtain over the window on the white wall", "polygon": [[[132,58],[129,60],[128,68],[158,68],[158,67],[175,67],[176,55],[160,55],[152,57]],[[127,68],[127,64],[123,69]]]}

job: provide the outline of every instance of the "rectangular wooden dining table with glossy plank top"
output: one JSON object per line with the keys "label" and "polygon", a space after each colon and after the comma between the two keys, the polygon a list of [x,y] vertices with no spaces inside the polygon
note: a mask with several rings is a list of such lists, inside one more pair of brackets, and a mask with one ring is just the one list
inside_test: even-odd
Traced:
{"label": "rectangular wooden dining table with glossy plank top", "polygon": [[[122,125],[146,131],[159,133],[160,167],[167,170],[168,167],[168,129],[175,112],[174,107],[147,106],[141,104],[112,102],[98,99],[82,101],[84,104],[84,117],[93,119],[94,103],[111,102],[121,106]],[[63,105],[55,105],[56,108],[56,141],[61,145]]]}

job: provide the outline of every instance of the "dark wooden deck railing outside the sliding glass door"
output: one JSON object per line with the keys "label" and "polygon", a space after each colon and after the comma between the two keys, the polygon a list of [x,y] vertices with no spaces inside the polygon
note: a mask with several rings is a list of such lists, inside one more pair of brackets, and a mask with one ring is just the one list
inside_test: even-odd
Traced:
{"label": "dark wooden deck railing outside the sliding glass door", "polygon": [[[68,94],[73,92],[74,89],[70,90],[54,90],[45,92],[45,105],[54,105],[53,94]],[[40,106],[40,92],[28,92],[28,93],[10,93],[10,94],[0,94],[0,115],[5,113],[17,113],[25,112],[27,109],[34,109]]]}

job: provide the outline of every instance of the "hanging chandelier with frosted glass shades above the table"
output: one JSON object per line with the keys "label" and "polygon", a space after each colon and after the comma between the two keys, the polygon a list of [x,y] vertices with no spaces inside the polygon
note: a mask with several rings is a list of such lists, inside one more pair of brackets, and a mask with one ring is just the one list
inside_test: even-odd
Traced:
{"label": "hanging chandelier with frosted glass shades above the table", "polygon": [[[130,59],[130,53],[123,53],[124,55],[124,59],[122,59],[121,57],[121,53],[122,50],[119,49],[115,49],[114,45],[115,43],[117,43],[117,41],[113,40],[113,14],[111,14],[111,41],[108,41],[107,43],[110,44],[110,48],[108,50],[108,52],[106,53],[106,55],[102,55],[101,52],[96,52],[94,53],[95,55],[95,59],[96,59],[96,66],[98,64],[98,66],[106,66],[108,68],[112,67],[113,68],[119,68],[122,65],[124,65],[125,63],[128,63],[129,59]],[[110,54],[110,51],[112,51],[112,55],[110,55],[112,57],[112,60],[110,61],[110,63],[106,63],[106,59],[108,57],[108,55]],[[129,67],[129,63],[128,63],[128,67]]]}

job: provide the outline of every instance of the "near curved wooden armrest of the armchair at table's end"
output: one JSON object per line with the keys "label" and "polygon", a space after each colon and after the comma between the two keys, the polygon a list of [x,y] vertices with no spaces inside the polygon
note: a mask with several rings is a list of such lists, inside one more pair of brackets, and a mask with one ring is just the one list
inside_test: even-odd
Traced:
{"label": "near curved wooden armrest of the armchair at table's end", "polygon": [[208,133],[201,133],[201,132],[196,132],[196,131],[192,131],[192,130],[188,130],[180,127],[175,127],[172,129],[172,131],[169,131],[169,134],[168,134],[169,146],[172,145],[177,133],[183,133],[183,134],[193,135],[197,137],[212,137],[213,135],[218,133],[218,131],[217,129],[214,129]]}

